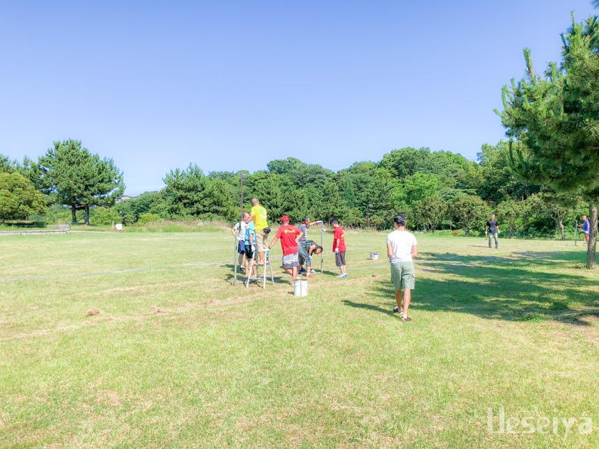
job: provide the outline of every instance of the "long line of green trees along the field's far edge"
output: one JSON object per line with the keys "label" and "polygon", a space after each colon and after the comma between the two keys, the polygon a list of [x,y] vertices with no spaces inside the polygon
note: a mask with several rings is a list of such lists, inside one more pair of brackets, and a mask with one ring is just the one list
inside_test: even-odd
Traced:
{"label": "long line of green trees along the field's far edge", "polygon": [[[254,173],[203,173],[190,164],[166,173],[162,190],[117,203],[125,185],[112,159],[92,154],[81,141],[57,141],[37,162],[0,156],[0,191],[13,196],[12,206],[0,199],[0,218],[46,214],[54,221],[68,214],[73,223],[127,226],[161,219],[235,221],[241,176],[244,209],[255,196],[271,217],[300,221],[308,214],[381,230],[391,228],[391,217],[403,212],[413,229],[469,235],[481,233],[495,212],[510,236],[566,238],[564,222],[582,213],[584,204],[577,196],[522,180],[509,165],[510,148],[504,141],[485,144],[476,162],[452,152],[401,148],[378,162],[356,162],[336,173],[293,157],[273,160]],[[19,180],[20,191],[4,187],[9,178]]]}

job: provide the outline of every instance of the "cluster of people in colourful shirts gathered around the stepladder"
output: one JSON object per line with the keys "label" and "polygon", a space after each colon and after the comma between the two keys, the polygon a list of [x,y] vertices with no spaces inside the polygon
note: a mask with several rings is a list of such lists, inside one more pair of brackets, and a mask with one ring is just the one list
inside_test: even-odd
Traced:
{"label": "cluster of people in colourful shirts gathered around the stepladder", "polygon": [[[277,230],[272,242],[268,244],[270,226],[268,226],[267,211],[260,205],[258,198],[252,198],[251,206],[249,214],[244,212],[241,221],[236,223],[231,230],[234,236],[235,233],[238,233],[238,262],[240,267],[244,263],[246,277],[256,277],[256,267],[270,262],[270,257],[266,257],[266,255],[270,254],[270,250],[277,240],[281,240],[283,269],[291,275],[292,280],[297,280],[298,274],[311,277],[316,273],[312,268],[312,256],[322,253],[322,246],[308,239],[308,229],[319,223],[322,232],[333,234],[333,252],[336,265],[341,270],[341,274],[337,277],[348,277],[345,270],[345,233],[337,220],[331,221],[334,230],[326,230],[322,227],[322,221],[310,221],[309,216],[304,216],[302,223],[295,227],[290,224],[289,217],[283,215],[281,227]],[[256,257],[256,253],[258,257]]]}

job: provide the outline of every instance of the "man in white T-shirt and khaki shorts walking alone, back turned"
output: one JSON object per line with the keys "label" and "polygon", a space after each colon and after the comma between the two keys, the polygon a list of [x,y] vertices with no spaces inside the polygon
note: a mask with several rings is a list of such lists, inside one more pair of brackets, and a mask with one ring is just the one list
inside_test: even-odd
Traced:
{"label": "man in white T-shirt and khaki shorts walking alone, back turned", "polygon": [[[394,307],[395,313],[401,313],[401,321],[411,321],[407,316],[407,310],[412,301],[412,290],[414,290],[414,262],[413,258],[418,256],[418,242],[414,234],[405,230],[405,216],[398,214],[394,216],[393,224],[395,230],[387,235],[387,258],[391,264],[391,283],[395,289]],[[403,307],[402,307],[403,291]]]}

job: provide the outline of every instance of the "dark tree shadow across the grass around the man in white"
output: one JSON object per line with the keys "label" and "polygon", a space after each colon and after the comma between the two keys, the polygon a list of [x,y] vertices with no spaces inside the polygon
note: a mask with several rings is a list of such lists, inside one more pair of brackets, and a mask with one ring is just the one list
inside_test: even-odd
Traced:
{"label": "dark tree shadow across the grass around the man in white", "polygon": [[[585,315],[599,315],[599,300],[587,289],[596,285],[579,267],[581,255],[568,252],[514,253],[515,257],[423,255],[412,293],[412,310],[469,313],[489,320],[555,321],[580,326]],[[389,277],[376,281],[368,303],[343,301],[393,315],[394,288]]]}

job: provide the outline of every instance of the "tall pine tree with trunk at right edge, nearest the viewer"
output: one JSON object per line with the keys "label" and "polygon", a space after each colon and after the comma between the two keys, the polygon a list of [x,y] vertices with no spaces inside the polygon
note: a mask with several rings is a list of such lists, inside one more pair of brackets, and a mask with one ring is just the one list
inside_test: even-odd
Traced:
{"label": "tall pine tree with trunk at right edge, nearest the viewer", "polygon": [[586,267],[596,268],[599,203],[599,22],[589,17],[562,35],[562,61],[540,76],[524,49],[527,76],[504,86],[506,134],[524,145],[511,148],[514,170],[535,184],[583,196],[591,203]]}

